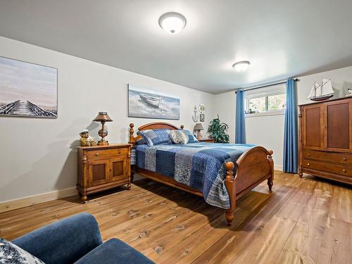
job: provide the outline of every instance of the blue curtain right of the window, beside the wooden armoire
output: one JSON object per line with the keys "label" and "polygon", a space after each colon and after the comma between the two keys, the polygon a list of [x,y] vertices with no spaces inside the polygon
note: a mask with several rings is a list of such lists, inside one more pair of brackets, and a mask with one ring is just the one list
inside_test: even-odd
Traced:
{"label": "blue curtain right of the window, beside the wooden armoire", "polygon": [[294,80],[286,82],[286,109],[284,123],[284,172],[297,173],[298,127],[297,96]]}

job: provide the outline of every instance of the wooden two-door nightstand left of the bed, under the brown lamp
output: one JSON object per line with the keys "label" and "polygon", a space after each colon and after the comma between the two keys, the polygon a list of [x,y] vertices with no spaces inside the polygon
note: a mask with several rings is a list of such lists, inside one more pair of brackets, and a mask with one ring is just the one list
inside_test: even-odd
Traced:
{"label": "wooden two-door nightstand left of the bed, under the brown lamp", "polygon": [[83,202],[87,194],[127,184],[131,188],[131,144],[78,146],[77,190]]}

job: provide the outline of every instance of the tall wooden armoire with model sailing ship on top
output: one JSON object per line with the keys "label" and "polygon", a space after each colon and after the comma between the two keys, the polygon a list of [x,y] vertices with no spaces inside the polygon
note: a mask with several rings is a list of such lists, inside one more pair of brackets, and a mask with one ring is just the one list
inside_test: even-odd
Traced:
{"label": "tall wooden armoire with model sailing ship on top", "polygon": [[352,98],[299,106],[299,171],[352,184]]}

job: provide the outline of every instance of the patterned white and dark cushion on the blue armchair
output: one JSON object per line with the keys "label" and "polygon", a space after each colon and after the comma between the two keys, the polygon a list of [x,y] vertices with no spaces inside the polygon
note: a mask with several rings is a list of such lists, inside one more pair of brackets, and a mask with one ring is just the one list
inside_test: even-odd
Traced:
{"label": "patterned white and dark cushion on the blue armchair", "polygon": [[42,260],[21,249],[19,246],[0,238],[0,264],[44,264]]}

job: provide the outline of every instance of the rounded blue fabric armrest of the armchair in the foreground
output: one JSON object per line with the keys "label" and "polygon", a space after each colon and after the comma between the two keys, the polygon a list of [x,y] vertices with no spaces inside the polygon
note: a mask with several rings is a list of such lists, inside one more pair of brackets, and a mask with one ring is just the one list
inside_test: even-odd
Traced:
{"label": "rounded blue fabric armrest of the armchair in the foreground", "polygon": [[59,220],[12,242],[46,264],[74,263],[102,243],[98,222],[89,213]]}

